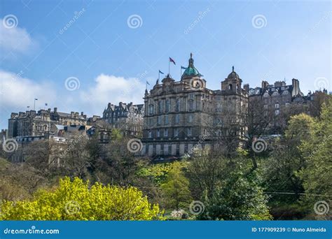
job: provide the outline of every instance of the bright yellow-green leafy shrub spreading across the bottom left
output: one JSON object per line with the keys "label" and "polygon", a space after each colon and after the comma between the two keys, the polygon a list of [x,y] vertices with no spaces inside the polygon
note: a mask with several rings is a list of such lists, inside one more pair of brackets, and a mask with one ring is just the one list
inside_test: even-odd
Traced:
{"label": "bright yellow-green leafy shrub spreading across the bottom left", "polygon": [[38,191],[32,201],[5,201],[4,220],[153,220],[163,219],[135,187],[103,186],[79,178],[60,180],[55,189]]}

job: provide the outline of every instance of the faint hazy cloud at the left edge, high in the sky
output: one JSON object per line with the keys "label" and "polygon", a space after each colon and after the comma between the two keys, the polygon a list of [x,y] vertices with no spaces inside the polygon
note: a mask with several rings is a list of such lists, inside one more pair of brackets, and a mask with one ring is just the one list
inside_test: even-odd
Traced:
{"label": "faint hazy cloud at the left edge, high in the sky", "polygon": [[34,45],[32,37],[20,27],[6,28],[0,19],[0,50],[4,52],[27,52]]}

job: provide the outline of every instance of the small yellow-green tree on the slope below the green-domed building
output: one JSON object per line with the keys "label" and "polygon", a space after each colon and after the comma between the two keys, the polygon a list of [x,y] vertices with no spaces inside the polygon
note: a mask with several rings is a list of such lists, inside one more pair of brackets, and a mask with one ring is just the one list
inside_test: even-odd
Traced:
{"label": "small yellow-green tree on the slope below the green-domed building", "polygon": [[165,194],[166,205],[168,208],[175,208],[176,210],[179,210],[191,201],[191,192],[188,189],[189,181],[181,169],[181,163],[174,162],[166,182],[161,185]]}

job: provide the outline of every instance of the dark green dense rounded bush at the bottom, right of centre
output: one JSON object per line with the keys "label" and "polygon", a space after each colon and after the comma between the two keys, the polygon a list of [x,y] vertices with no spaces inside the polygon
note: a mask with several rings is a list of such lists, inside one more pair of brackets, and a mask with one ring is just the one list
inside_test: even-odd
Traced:
{"label": "dark green dense rounded bush at the bottom, right of centre", "polygon": [[256,173],[246,175],[233,171],[216,187],[212,198],[205,200],[205,211],[198,219],[205,220],[269,220],[272,219]]}

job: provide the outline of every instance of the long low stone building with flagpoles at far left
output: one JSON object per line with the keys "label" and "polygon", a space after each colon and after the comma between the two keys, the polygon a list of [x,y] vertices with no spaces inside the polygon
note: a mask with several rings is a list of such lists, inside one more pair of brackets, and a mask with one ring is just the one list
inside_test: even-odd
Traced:
{"label": "long low stone building with flagpoles at far left", "polygon": [[56,124],[85,125],[86,121],[86,115],[83,112],[81,115],[77,112],[62,113],[58,112],[57,108],[54,108],[53,111],[49,108],[38,112],[27,110],[11,113],[11,118],[8,119],[8,138],[46,136],[57,131]]}

